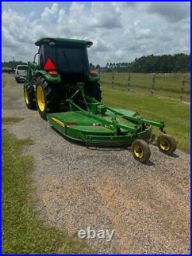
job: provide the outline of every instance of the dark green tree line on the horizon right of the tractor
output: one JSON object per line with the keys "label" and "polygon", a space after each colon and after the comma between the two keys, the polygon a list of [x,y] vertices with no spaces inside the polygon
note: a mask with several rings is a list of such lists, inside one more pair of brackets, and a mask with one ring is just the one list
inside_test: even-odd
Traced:
{"label": "dark green tree line on the horizon right of the tractor", "polygon": [[139,72],[139,73],[169,73],[190,72],[190,55],[178,53],[176,55],[147,55],[135,58],[133,62],[107,63],[104,67],[92,65],[91,69],[99,71]]}

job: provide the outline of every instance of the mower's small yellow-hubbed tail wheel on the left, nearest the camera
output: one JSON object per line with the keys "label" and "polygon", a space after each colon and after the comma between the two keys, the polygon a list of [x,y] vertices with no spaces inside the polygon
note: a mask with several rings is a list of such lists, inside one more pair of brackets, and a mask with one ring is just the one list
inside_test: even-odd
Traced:
{"label": "mower's small yellow-hubbed tail wheel on the left, nearest the camera", "polygon": [[131,149],[134,159],[141,163],[147,162],[151,156],[151,149],[149,145],[142,139],[135,140],[131,145]]}

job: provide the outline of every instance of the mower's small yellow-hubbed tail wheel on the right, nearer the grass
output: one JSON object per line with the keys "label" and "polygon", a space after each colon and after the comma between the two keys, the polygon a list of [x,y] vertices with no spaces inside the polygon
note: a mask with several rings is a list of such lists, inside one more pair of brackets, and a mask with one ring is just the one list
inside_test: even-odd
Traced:
{"label": "mower's small yellow-hubbed tail wheel on the right, nearer the grass", "polygon": [[171,135],[159,135],[157,138],[157,146],[164,154],[171,155],[177,148],[177,141]]}

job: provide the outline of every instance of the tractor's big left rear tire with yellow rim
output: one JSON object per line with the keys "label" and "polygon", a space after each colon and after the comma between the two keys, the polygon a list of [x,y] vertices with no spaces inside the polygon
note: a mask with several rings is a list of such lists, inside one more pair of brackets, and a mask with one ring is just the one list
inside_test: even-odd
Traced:
{"label": "tractor's big left rear tire with yellow rim", "polygon": [[35,87],[35,98],[39,115],[47,120],[48,113],[59,111],[61,96],[57,85],[50,84],[43,77],[38,77]]}

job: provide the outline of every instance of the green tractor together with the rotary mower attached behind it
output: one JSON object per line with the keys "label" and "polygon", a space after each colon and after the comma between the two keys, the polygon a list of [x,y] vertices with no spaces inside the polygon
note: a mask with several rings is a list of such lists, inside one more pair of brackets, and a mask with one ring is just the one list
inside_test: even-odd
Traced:
{"label": "green tractor together with the rotary mower attached behind it", "polygon": [[156,126],[162,132],[157,138],[160,151],[174,153],[177,143],[166,135],[164,122],[101,103],[98,73],[89,70],[87,48],[92,42],[41,38],[35,45],[39,48],[34,61],[28,62],[25,103],[38,109],[41,118],[62,135],[96,147],[131,146],[134,158],[145,163],[151,156],[152,126]]}

